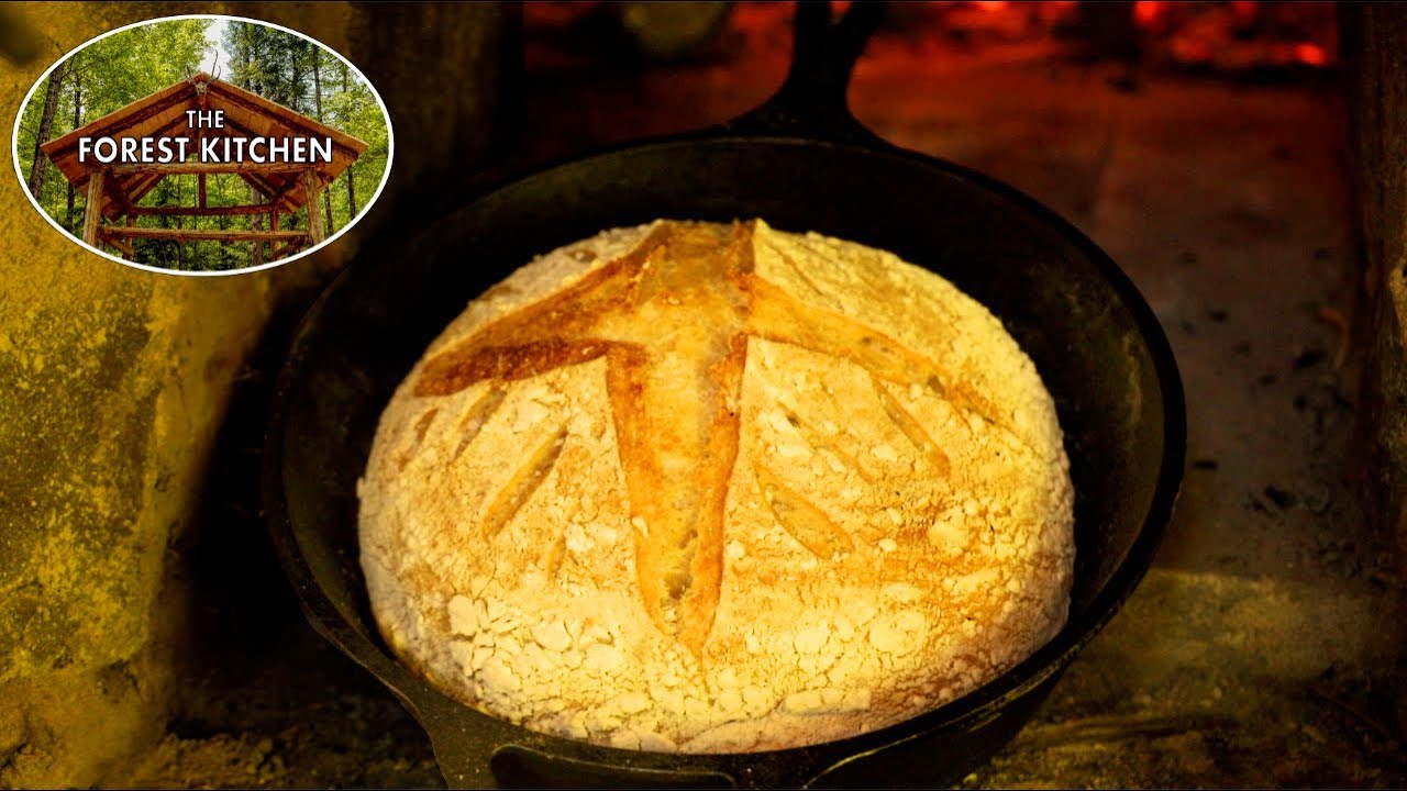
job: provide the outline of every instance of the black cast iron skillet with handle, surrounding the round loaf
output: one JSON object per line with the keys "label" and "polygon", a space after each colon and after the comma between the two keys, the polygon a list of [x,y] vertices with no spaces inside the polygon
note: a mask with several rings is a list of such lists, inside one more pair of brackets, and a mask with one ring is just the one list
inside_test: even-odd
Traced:
{"label": "black cast iron skillet with handle, surrounding the round loaf", "polygon": [[[279,379],[265,500],[314,626],[429,732],[450,785],[936,785],[962,777],[1034,712],[1142,577],[1182,480],[1182,386],[1157,319],[1119,267],[1034,200],[893,148],[846,108],[878,21],[802,3],[796,53],[761,108],[701,134],[533,173],[409,241],[360,256],[312,307]],[[1075,481],[1069,622],[981,690],[882,730],[747,754],[670,754],[533,733],[450,701],[400,664],[357,563],[356,480],[377,418],[431,339],[533,255],[657,217],[763,217],[892,251],[991,308],[1055,397]]]}

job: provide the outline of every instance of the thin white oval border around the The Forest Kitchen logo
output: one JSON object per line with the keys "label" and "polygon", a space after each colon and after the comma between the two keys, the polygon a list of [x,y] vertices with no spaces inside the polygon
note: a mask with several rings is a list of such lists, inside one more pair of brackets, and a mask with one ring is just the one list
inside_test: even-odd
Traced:
{"label": "thin white oval border around the The Forest Kitchen logo", "polygon": [[[217,272],[210,272],[210,270],[184,272],[184,270],[179,270],[179,269],[165,269],[165,267],[160,267],[160,266],[149,266],[149,265],[145,265],[145,263],[136,263],[134,260],[125,260],[125,259],[122,259],[120,256],[115,256],[113,253],[108,253],[108,252],[100,251],[97,248],[89,246],[83,239],[79,239],[77,236],[75,236],[73,234],[70,234],[68,229],[65,229],[62,225],[59,225],[59,222],[56,220],[53,220],[52,217],[49,217],[49,213],[44,211],[44,207],[39,205],[39,201],[35,200],[35,197],[32,194],[30,194],[30,184],[25,182],[24,173],[20,172],[20,121],[24,120],[24,111],[30,107],[30,100],[34,99],[35,91],[38,91],[39,86],[44,84],[44,82],[49,77],[49,73],[52,73],[53,69],[59,68],[59,63],[62,63],[62,62],[68,61],[69,58],[72,58],[73,53],[84,49],[90,44],[94,44],[97,41],[103,41],[104,38],[107,38],[110,35],[122,32],[125,30],[136,28],[136,27],[151,25],[151,24],[156,24],[156,23],[179,21],[179,20],[231,20],[231,21],[236,21],[236,23],[250,23],[250,24],[256,24],[256,25],[263,25],[263,27],[270,27],[270,28],[281,30],[283,32],[288,32],[288,34],[297,35],[298,38],[303,38],[303,39],[307,39],[307,41],[312,42],[314,46],[318,46],[322,51],[332,53],[338,61],[342,61],[349,69],[352,69],[352,72],[362,80],[363,84],[366,84],[369,89],[371,89],[371,96],[376,97],[376,104],[377,104],[377,107],[381,108],[381,117],[386,118],[386,172],[381,173],[381,183],[377,184],[376,191],[371,193],[371,200],[366,201],[366,204],[362,207],[362,211],[359,211],[357,215],[353,217],[350,222],[348,222],[346,225],[343,225],[342,228],[339,228],[336,234],[332,234],[326,239],[322,239],[322,242],[319,242],[319,243],[317,243],[317,245],[314,245],[314,246],[311,246],[311,248],[308,248],[308,249],[305,249],[303,252],[294,253],[294,255],[291,255],[288,258],[280,258],[279,260],[273,260],[273,262],[263,263],[263,265],[259,265],[259,266],[246,266],[243,269],[222,269],[222,270],[217,270]],[[42,156],[42,153],[39,156]],[[90,38],[90,39],[84,41],[83,44],[75,46],[73,49],[69,49],[62,58],[59,58],[58,61],[55,61],[53,65],[51,65],[48,69],[44,70],[42,75],[39,75],[39,79],[37,79],[34,82],[34,86],[30,87],[30,93],[24,94],[24,101],[20,103],[20,113],[15,114],[15,117],[14,117],[14,131],[10,134],[10,159],[14,162],[14,175],[15,175],[15,177],[20,179],[20,189],[24,190],[24,196],[27,198],[30,198],[30,204],[34,205],[34,210],[39,213],[39,217],[42,217],[44,220],[46,220],[49,222],[49,225],[53,227],[55,231],[58,231],[59,234],[63,235],[63,238],[72,241],[75,245],[83,248],[84,251],[91,252],[91,253],[97,253],[97,255],[100,255],[100,256],[103,256],[103,258],[106,258],[108,260],[115,260],[117,263],[121,263],[122,266],[131,266],[132,269],[141,269],[142,272],[155,272],[158,274],[193,276],[193,277],[222,277],[222,276],[228,276],[228,274],[248,274],[250,272],[263,272],[266,269],[273,269],[276,266],[283,266],[286,263],[291,263],[294,260],[298,260],[303,256],[312,255],[312,253],[321,251],[322,248],[325,248],[329,243],[335,242],[339,236],[342,236],[342,234],[346,234],[348,231],[350,231],[353,225],[356,225],[357,222],[360,222],[362,218],[366,217],[366,214],[369,211],[371,211],[371,207],[376,205],[376,201],[381,197],[381,190],[386,189],[386,183],[391,180],[391,167],[395,165],[395,128],[394,128],[394,124],[391,124],[391,111],[386,108],[386,101],[381,100],[381,91],[376,90],[376,86],[371,83],[371,80],[369,80],[366,77],[366,75],[362,73],[362,69],[357,69],[356,63],[353,63],[352,61],[348,61],[346,58],[342,56],[340,52],[338,52],[336,49],[328,46],[326,44],[322,44],[321,41],[312,38],[311,35],[298,32],[298,31],[291,30],[291,28],[286,28],[286,27],[274,24],[274,23],[269,23],[269,21],[265,21],[265,20],[255,20],[255,18],[249,18],[249,17],[232,17],[229,14],[180,14],[180,15],[174,15],[174,17],[153,17],[151,20],[144,20],[144,21],[139,21],[139,23],[132,23],[129,25],[122,25],[120,28],[110,30],[110,31],[107,31],[107,32],[104,32],[101,35],[94,35],[93,38]]]}

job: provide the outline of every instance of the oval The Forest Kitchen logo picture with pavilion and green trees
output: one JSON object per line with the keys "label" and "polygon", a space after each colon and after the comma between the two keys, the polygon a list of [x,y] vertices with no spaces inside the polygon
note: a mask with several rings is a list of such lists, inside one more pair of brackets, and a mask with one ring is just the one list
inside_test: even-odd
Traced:
{"label": "oval The Forest Kitchen logo picture with pavilion and green trees", "polygon": [[[193,122],[194,111],[219,125]],[[173,158],[180,138],[190,146]],[[265,146],[245,146],[255,139]],[[307,165],[257,156],[290,141],[336,155]],[[128,153],[146,144],[145,159],[115,156],[124,142]],[[20,176],[55,225],[108,255],[183,272],[265,266],[332,238],[377,194],[390,148],[386,114],[356,69],[311,39],[219,17],[89,42],[35,86],[15,128]]]}

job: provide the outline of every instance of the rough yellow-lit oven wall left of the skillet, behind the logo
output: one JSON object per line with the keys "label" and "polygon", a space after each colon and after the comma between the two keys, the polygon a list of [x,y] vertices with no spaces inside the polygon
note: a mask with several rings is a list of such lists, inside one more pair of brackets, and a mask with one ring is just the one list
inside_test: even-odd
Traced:
{"label": "rough yellow-lit oven wall left of the skillet, behind the logo", "polygon": [[198,279],[84,252],[34,211],[0,146],[3,788],[101,785],[162,736],[173,669],[194,650],[182,640],[200,580],[182,548],[270,317],[291,324],[363,239],[473,173],[492,144],[499,4],[23,4],[0,18],[0,117],[89,38],[190,13],[263,18],[340,51],[384,96],[402,145],[346,236],[270,272]]}

